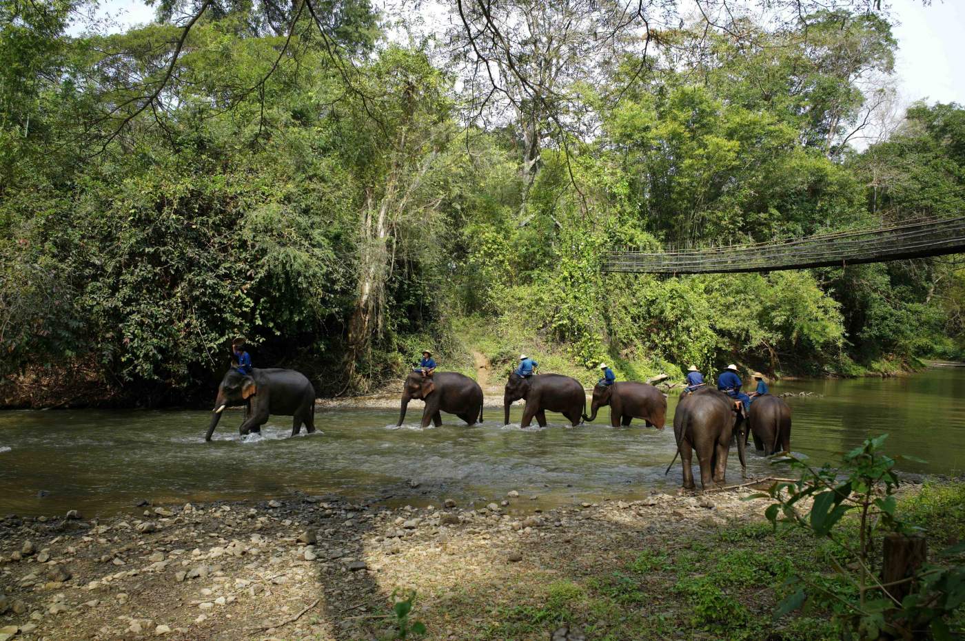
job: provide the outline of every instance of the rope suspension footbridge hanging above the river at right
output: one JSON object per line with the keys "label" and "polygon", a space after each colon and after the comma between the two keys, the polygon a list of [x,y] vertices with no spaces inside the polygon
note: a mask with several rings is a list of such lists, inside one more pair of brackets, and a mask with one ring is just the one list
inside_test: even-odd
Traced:
{"label": "rope suspension footbridge hanging above the river at right", "polygon": [[965,216],[822,233],[791,241],[680,252],[610,252],[604,272],[724,274],[834,267],[965,253]]}

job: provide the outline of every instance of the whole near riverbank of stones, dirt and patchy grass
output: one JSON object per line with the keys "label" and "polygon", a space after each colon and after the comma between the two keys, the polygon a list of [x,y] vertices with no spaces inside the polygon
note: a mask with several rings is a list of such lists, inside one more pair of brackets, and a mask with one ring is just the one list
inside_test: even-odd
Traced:
{"label": "whole near riverbank of stones, dirt and patchy grass", "polygon": [[827,636],[821,613],[771,623],[782,568],[812,566],[814,544],[772,536],[751,493],[546,512],[510,492],[425,509],[298,496],[7,517],[0,639],[386,638],[409,591],[426,639],[545,639],[564,625],[595,639]]}

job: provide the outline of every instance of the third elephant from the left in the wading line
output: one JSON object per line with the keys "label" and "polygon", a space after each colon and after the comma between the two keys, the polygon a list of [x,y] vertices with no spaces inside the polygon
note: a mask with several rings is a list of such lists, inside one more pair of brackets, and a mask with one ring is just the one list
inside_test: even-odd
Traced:
{"label": "third elephant from the left in the wading line", "polygon": [[504,425],[510,424],[510,405],[526,399],[520,427],[529,427],[536,416],[539,427],[546,427],[546,410],[559,412],[574,426],[587,411],[587,392],[580,382],[563,374],[534,374],[524,378],[513,372],[506,383],[503,403],[506,407]]}

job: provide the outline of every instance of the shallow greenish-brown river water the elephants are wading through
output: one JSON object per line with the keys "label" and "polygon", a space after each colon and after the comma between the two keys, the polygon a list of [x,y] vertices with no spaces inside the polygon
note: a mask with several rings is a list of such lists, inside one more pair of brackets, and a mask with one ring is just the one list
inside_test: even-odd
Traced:
{"label": "shallow greenish-brown river water the elephants are wading through", "polygon": [[[887,450],[926,463],[904,471],[960,474],[965,469],[965,368],[937,367],[893,379],[788,381],[791,449],[813,463],[834,461],[869,435],[888,432]],[[816,394],[822,396],[818,397]],[[387,503],[498,499],[510,490],[543,505],[631,497],[676,488],[680,464],[672,428],[658,432],[634,421],[609,426],[603,408],[594,423],[570,427],[547,414],[546,429],[504,427],[502,411],[486,409],[482,426],[443,414],[441,427],[419,429],[413,402],[406,423],[398,411],[318,410],[318,432],[289,439],[290,418],[269,419],[262,437],[241,441],[240,412],[226,412],[215,441],[204,442],[210,414],[199,411],[0,412],[0,514],[110,514],[137,499],[154,503],[265,499],[296,491],[377,498]],[[511,420],[518,421],[520,408]],[[786,474],[749,443],[749,470]],[[696,464],[696,459],[695,459]],[[728,481],[739,482],[736,448]],[[411,488],[409,481],[419,483]]]}

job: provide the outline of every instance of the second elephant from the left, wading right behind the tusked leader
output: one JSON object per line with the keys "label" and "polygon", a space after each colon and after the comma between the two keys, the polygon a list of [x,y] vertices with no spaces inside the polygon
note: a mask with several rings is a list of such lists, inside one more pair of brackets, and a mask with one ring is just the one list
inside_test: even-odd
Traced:
{"label": "second elephant from the left, wading right behind the tusked leader", "polygon": [[458,372],[436,372],[424,376],[422,372],[411,372],[402,387],[402,407],[399,424],[405,419],[409,401],[421,398],[426,402],[423,410],[422,426],[428,427],[429,421],[436,427],[442,425],[439,412],[455,414],[470,425],[483,422],[483,388],[476,381]]}

